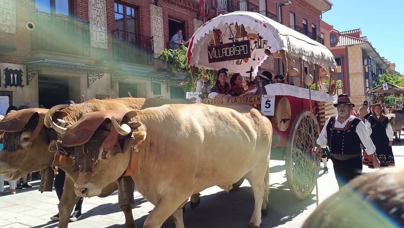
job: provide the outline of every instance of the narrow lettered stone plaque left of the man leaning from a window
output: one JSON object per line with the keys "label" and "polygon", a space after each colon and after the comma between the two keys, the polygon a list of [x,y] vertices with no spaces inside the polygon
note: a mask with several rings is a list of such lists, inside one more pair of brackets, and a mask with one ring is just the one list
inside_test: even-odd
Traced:
{"label": "narrow lettered stone plaque left of the man leaning from a window", "polygon": [[164,49],[163,10],[161,7],[150,4],[150,27],[154,43],[154,57],[160,56]]}

